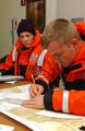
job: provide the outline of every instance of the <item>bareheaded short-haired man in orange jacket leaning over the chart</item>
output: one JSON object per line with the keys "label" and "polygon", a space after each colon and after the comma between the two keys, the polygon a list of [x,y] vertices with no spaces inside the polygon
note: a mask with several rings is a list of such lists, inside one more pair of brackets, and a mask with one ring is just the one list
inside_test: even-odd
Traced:
{"label": "bareheaded short-haired man in orange jacket leaning over the chart", "polygon": [[85,116],[85,41],[74,24],[64,19],[49,23],[42,36],[48,52],[60,66],[64,86],[48,86],[48,91],[42,94],[39,92],[44,88],[41,85],[33,85],[33,91],[29,91],[32,98],[22,105]]}

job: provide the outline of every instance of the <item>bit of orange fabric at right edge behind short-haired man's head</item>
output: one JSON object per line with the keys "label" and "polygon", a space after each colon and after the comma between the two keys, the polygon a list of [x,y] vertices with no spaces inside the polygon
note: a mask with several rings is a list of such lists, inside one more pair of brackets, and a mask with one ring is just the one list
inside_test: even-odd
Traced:
{"label": "bit of orange fabric at right edge behind short-haired man's head", "polygon": [[77,28],[82,39],[85,40],[85,22],[75,22],[74,25]]}

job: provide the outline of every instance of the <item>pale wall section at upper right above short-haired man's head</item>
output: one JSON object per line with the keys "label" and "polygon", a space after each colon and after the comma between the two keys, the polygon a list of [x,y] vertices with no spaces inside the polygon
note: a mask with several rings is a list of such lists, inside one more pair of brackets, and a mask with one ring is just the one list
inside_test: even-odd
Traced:
{"label": "pale wall section at upper right above short-haired man's head", "polygon": [[85,19],[85,0],[58,0],[57,17],[69,20],[72,17]]}

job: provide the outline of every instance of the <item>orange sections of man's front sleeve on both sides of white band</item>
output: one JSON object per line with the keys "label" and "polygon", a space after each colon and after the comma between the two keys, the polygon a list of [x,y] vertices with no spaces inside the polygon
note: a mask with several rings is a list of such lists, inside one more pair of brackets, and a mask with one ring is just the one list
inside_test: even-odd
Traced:
{"label": "orange sections of man's front sleeve on both sides of white band", "polygon": [[[85,91],[66,91],[68,97],[68,112],[74,115],[85,116]],[[57,90],[52,93],[52,108],[56,111],[63,111],[63,93],[64,90]]]}

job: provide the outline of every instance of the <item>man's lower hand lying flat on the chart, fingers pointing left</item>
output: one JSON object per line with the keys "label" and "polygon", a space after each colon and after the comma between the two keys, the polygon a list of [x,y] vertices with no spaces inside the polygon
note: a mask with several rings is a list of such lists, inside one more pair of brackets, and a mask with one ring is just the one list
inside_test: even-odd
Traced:
{"label": "man's lower hand lying flat on the chart, fingers pointing left", "polygon": [[28,100],[24,100],[22,106],[34,109],[44,109],[44,95],[37,95]]}

